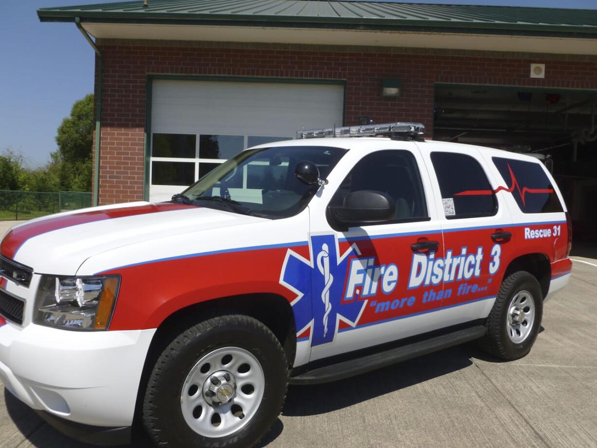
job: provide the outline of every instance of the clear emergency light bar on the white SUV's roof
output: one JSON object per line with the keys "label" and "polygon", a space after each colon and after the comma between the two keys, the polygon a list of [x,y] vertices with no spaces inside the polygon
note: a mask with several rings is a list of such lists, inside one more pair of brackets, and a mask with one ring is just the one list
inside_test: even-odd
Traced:
{"label": "clear emergency light bar on the white SUV's roof", "polygon": [[317,139],[322,137],[395,137],[405,140],[423,140],[425,126],[421,123],[384,123],[340,128],[312,129],[297,131],[297,139]]}

